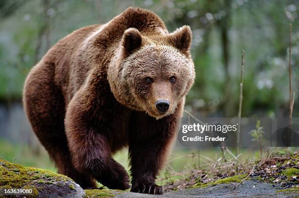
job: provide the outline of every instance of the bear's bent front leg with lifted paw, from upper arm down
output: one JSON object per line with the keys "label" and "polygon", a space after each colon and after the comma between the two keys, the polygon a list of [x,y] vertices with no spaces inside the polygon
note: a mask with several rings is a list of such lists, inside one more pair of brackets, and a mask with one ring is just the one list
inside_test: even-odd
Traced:
{"label": "bear's bent front leg with lifted paw, from upper arm down", "polygon": [[78,171],[92,175],[110,189],[128,189],[128,173],[111,157],[109,141],[104,135],[113,116],[91,96],[81,90],[67,107],[65,131],[73,164]]}

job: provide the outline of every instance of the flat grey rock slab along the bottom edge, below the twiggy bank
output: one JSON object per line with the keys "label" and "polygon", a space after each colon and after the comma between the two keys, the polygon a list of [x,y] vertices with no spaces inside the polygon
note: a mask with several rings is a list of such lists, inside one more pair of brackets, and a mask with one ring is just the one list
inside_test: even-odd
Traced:
{"label": "flat grey rock slab along the bottom edge, below the twiggy bank", "polygon": [[[114,198],[298,198],[299,188],[286,188],[281,190],[277,185],[259,180],[246,180],[238,185],[236,183],[222,183],[210,187],[194,187],[184,190],[171,191],[161,195],[147,195],[131,192],[107,191],[107,197]],[[280,189],[280,190],[279,190]],[[92,195],[90,197],[93,197]],[[96,197],[96,196],[95,196]]]}

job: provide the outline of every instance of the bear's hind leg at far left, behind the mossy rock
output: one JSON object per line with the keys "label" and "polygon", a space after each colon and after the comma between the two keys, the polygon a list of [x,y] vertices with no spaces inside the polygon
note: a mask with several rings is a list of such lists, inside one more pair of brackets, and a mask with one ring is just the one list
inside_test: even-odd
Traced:
{"label": "bear's hind leg at far left, behind the mossy rock", "polygon": [[23,93],[27,117],[58,172],[74,179],[84,188],[95,188],[95,180],[79,173],[71,163],[64,132],[64,98],[51,79],[52,68],[51,65],[42,64],[30,72]]}

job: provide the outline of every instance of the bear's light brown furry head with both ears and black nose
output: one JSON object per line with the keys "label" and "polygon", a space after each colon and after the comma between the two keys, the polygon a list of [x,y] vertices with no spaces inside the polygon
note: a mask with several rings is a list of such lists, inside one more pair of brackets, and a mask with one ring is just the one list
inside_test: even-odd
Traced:
{"label": "bear's light brown furry head with both ears and black nose", "polygon": [[189,26],[148,36],[128,28],[108,67],[114,97],[156,119],[174,113],[195,78],[191,39]]}

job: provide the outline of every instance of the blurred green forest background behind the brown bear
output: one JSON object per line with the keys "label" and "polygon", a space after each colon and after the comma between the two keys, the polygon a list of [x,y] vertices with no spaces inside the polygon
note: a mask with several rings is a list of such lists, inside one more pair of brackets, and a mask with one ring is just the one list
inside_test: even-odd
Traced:
{"label": "blurred green forest background behind the brown bear", "polygon": [[[191,26],[196,80],[186,109],[196,117],[237,116],[242,49],[242,117],[288,117],[292,23],[293,117],[299,117],[297,0],[0,0],[1,157],[54,169],[23,113],[25,77],[58,40],[80,27],[106,23],[129,6],[152,10],[170,32]],[[126,155],[117,158],[127,161]]]}

